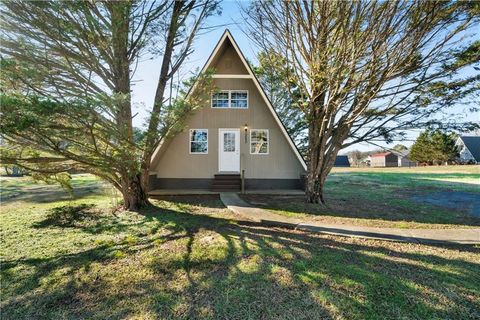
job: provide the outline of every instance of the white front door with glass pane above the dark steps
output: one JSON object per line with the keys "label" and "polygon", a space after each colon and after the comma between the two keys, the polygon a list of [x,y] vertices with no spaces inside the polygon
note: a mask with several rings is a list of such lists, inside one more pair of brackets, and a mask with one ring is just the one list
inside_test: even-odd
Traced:
{"label": "white front door with glass pane above the dark steps", "polygon": [[240,129],[219,129],[218,142],[218,171],[240,172]]}

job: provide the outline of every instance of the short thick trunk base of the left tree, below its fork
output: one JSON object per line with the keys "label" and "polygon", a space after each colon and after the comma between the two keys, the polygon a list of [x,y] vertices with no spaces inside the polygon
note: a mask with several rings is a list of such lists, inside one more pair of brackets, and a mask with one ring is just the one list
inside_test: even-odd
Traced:
{"label": "short thick trunk base of the left tree, below its fork", "polygon": [[125,178],[122,183],[123,208],[138,211],[150,204],[148,201],[147,186],[143,183],[140,174],[133,178]]}

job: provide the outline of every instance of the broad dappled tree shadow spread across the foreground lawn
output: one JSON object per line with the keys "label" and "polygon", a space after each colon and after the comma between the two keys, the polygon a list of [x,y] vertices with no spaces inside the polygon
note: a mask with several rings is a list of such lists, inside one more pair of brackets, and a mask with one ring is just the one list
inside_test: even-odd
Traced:
{"label": "broad dappled tree shadow spread across the foreground lawn", "polygon": [[480,316],[480,265],[438,254],[477,247],[323,237],[158,206],[142,214],[158,232],[135,242],[4,261],[15,283],[4,319]]}

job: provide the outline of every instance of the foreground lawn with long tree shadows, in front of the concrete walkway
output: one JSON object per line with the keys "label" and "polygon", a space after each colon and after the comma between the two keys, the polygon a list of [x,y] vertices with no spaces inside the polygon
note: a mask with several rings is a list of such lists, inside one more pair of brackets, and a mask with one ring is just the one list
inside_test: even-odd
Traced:
{"label": "foreground lawn with long tree shadows, in front of the concrete walkway", "polygon": [[7,180],[18,195],[0,208],[2,319],[480,317],[478,246],[238,224],[216,196],[115,213],[88,176],[74,199]]}

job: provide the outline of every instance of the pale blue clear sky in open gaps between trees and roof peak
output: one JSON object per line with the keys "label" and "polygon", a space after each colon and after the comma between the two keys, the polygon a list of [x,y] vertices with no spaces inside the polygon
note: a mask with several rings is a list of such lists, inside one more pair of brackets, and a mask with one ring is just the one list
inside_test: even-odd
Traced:
{"label": "pale blue clear sky in open gaps between trees and roof peak", "polygon": [[[210,53],[213,51],[214,46],[220,39],[221,35],[226,28],[230,30],[235,41],[238,43],[242,52],[249,61],[256,62],[256,53],[258,49],[249,41],[248,36],[242,32],[244,27],[243,17],[241,15],[241,6],[248,6],[249,1],[223,1],[222,14],[220,16],[213,16],[207,20],[207,25],[215,27],[208,33],[198,36],[194,43],[194,52],[188,58],[180,71],[180,77],[187,79],[195,74],[195,71],[201,68]],[[144,124],[146,117],[148,116],[148,110],[151,110],[153,105],[153,98],[155,95],[155,89],[160,73],[159,58],[153,60],[142,61],[136,70],[135,77],[133,79],[133,101],[134,109],[137,115],[134,118],[134,125],[141,127]],[[470,114],[462,106],[455,107],[455,111],[459,114],[464,114],[465,118],[469,120],[477,120],[480,122],[480,115],[478,113]],[[406,146],[410,146],[413,140],[419,134],[419,130],[412,130],[404,141],[395,141],[394,143],[387,145],[381,141],[375,141],[376,144],[381,146],[393,147],[397,143],[402,143]],[[362,143],[348,148],[348,150],[370,150],[375,148],[374,145]],[[348,151],[343,150],[343,153]]]}

